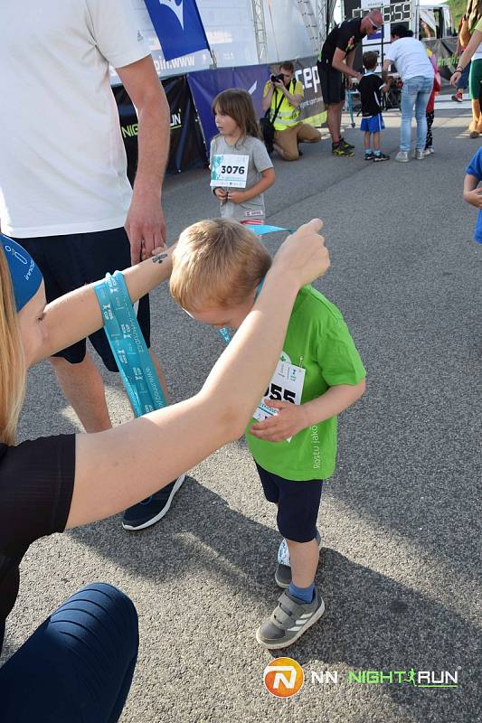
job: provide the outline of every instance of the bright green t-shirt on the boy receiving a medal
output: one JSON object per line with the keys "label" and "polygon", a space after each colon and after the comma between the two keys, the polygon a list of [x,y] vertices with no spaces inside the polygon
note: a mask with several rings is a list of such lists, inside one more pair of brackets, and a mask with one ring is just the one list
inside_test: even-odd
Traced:
{"label": "bright green t-shirt on the boy receiving a medal", "polygon": [[[330,387],[358,384],[366,374],[340,311],[312,286],[304,286],[298,293],[280,361],[306,370],[302,404]],[[246,429],[250,453],[268,472],[288,480],[326,479],[333,474],[336,417],[302,429],[290,442],[253,437],[249,433],[253,421]]]}

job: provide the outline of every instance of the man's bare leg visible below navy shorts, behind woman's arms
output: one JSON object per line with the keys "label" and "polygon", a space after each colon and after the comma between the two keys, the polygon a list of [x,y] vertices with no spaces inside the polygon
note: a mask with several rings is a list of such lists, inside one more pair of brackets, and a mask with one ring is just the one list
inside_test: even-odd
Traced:
{"label": "man's bare leg visible below navy shorts, behind woman's arms", "polygon": [[50,361],[61,390],[85,431],[101,432],[112,427],[104,382],[89,352],[79,364],[71,364],[58,356],[51,357]]}

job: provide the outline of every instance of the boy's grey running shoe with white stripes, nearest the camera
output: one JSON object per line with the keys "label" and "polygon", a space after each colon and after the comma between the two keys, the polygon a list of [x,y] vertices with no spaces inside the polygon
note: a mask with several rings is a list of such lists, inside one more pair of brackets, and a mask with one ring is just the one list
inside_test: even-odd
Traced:
{"label": "boy's grey running shoe with white stripes, nearest the camera", "polygon": [[325,612],[325,603],[315,588],[312,603],[301,603],[285,590],[273,614],[256,631],[263,648],[276,650],[294,643]]}

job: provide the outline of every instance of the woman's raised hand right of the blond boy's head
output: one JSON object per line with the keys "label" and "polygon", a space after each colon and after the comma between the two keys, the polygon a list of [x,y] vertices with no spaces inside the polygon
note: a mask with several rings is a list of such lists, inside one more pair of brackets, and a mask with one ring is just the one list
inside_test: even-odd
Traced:
{"label": "woman's raised hand right of the blond boy's head", "polygon": [[313,219],[288,236],[273,259],[273,270],[278,269],[286,277],[294,277],[299,287],[326,274],[330,268],[330,257],[325,239],[318,233],[322,228],[323,221]]}

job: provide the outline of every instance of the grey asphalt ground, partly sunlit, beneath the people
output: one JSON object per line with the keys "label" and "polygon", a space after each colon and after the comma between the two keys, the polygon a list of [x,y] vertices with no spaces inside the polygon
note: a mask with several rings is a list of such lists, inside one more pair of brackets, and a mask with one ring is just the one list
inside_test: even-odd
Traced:
{"label": "grey asphalt ground, partly sunlit, beneath the people", "polygon": [[[22,564],[5,658],[78,587],[106,580],[139,613],[141,646],[123,723],[475,723],[480,632],[480,286],[476,211],[462,201],[468,108],[436,108],[435,155],[367,164],[326,139],[296,164],[275,159],[269,222],[320,216],[332,255],[316,286],[345,314],[368,371],[364,399],[341,418],[336,474],[319,516],[317,585],[326,615],[285,654],[304,668],[295,698],[263,688],[275,657],[254,632],[279,596],[279,533],[241,440],[191,470],[164,521],[128,533],[116,517],[41,540]],[[397,151],[400,116],[386,114],[383,150]],[[217,215],[207,172],[169,178],[170,239]],[[271,251],[282,235],[268,237]],[[222,343],[152,295],[153,345],[175,400],[198,390]],[[126,397],[105,373],[117,424]],[[47,363],[30,374],[21,438],[80,430]],[[189,439],[185,440],[189,445]],[[101,484],[101,480],[99,480]],[[133,484],[136,481],[133,480]],[[479,498],[478,498],[479,502]],[[348,671],[457,672],[458,688],[347,681]],[[312,682],[331,671],[337,683]],[[478,697],[478,702],[480,698]],[[39,718],[40,720],[40,718]]]}

